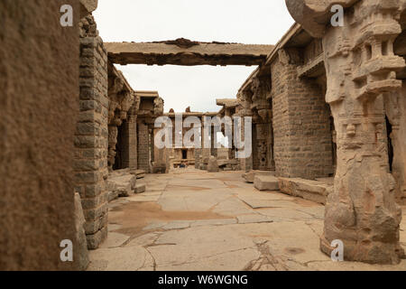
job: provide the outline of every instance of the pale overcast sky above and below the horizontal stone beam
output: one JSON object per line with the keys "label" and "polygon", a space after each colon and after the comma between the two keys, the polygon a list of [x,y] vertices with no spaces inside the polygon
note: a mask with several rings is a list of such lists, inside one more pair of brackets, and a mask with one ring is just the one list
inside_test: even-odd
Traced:
{"label": "pale overcast sky above and below the horizontal stone beam", "polygon": [[[293,24],[284,0],[99,0],[94,13],[105,42],[187,38],[276,44]],[[119,66],[135,90],[158,90],[165,111],[218,111],[256,67]]]}

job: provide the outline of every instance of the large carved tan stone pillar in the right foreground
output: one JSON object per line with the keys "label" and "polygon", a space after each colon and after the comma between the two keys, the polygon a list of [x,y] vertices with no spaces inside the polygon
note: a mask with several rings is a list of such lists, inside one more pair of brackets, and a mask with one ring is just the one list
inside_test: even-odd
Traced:
{"label": "large carved tan stone pillar in the right foreground", "polygon": [[389,173],[383,93],[401,88],[395,71],[405,63],[392,47],[401,33],[395,20],[398,7],[385,3],[383,9],[377,3],[358,2],[344,27],[329,28],[323,37],[326,99],[337,130],[337,174],[321,249],[329,255],[331,242],[339,239],[348,261],[396,264],[404,256],[401,208]]}

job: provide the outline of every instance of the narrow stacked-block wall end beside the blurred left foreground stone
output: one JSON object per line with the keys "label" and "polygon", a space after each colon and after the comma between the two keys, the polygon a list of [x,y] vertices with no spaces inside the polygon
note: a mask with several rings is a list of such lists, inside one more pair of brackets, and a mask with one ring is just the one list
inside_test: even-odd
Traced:
{"label": "narrow stacked-block wall end beside the blurred left foreground stone", "polygon": [[75,183],[86,219],[88,248],[107,235],[107,53],[92,16],[82,19],[80,112],[75,136]]}

